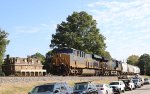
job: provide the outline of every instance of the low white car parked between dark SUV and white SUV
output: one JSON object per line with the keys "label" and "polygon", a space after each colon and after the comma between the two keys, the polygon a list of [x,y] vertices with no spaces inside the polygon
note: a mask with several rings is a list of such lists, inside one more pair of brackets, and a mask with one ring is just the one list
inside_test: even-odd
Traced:
{"label": "low white car parked between dark SUV and white SUV", "polygon": [[113,94],[113,89],[108,84],[97,84],[98,94]]}

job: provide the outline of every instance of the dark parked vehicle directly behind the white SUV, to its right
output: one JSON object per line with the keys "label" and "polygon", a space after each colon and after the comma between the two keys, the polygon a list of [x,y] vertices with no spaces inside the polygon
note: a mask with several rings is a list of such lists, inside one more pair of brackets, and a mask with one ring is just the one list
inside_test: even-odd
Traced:
{"label": "dark parked vehicle directly behind the white SUV, to its right", "polygon": [[122,81],[125,84],[125,90],[133,90],[133,89],[135,89],[135,85],[134,85],[132,80],[130,80],[130,79],[122,79]]}

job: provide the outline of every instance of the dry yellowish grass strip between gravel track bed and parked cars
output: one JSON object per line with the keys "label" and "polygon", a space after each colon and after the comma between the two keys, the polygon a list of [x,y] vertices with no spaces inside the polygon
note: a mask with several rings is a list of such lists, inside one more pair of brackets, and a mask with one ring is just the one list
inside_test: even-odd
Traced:
{"label": "dry yellowish grass strip between gravel track bed and parked cars", "polygon": [[[67,80],[70,86],[76,82],[84,82],[85,80]],[[87,81],[87,80],[86,80]],[[0,94],[27,94],[34,86],[51,83],[54,81],[35,81],[35,82],[17,82],[0,84]],[[62,81],[61,81],[62,82]],[[110,79],[96,80],[94,83],[109,83]]]}

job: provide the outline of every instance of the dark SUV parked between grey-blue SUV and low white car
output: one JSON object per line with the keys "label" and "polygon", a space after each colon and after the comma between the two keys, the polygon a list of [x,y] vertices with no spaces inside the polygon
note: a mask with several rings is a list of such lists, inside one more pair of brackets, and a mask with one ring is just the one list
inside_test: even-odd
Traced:
{"label": "dark SUV parked between grey-blue SUV and low white car", "polygon": [[98,94],[96,84],[92,82],[75,83],[73,94]]}

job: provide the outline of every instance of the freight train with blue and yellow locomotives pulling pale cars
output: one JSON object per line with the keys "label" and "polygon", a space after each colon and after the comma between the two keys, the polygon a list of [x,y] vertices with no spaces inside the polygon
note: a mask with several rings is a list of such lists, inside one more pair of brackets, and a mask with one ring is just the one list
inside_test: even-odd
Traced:
{"label": "freight train with blue and yellow locomotives pulling pale cars", "polygon": [[52,57],[51,69],[56,75],[136,75],[137,66],[107,59],[95,54],[86,54],[76,49],[59,49]]}

